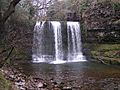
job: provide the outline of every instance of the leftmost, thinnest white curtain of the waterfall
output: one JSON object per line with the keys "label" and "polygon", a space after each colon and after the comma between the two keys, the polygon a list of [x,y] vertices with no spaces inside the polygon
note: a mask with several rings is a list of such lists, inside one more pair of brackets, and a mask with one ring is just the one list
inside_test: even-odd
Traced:
{"label": "leftmost, thinnest white curtain of the waterfall", "polygon": [[[41,55],[41,44],[42,44],[42,38],[40,35],[42,34],[43,28],[44,28],[45,21],[42,22],[36,22],[35,28],[34,28],[34,37],[33,37],[33,62],[40,63],[45,62],[43,55]],[[36,41],[38,41],[36,43]],[[35,49],[37,48],[37,49]]]}

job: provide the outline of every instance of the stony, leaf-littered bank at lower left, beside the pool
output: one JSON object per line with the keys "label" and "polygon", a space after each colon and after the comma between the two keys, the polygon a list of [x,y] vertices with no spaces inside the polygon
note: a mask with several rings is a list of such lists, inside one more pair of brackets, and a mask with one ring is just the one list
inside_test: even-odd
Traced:
{"label": "stony, leaf-littered bank at lower left, beside the pool", "polygon": [[40,77],[26,76],[13,67],[3,67],[0,71],[11,82],[12,90],[72,90],[72,87],[64,86],[63,82],[57,83],[52,78],[45,81]]}

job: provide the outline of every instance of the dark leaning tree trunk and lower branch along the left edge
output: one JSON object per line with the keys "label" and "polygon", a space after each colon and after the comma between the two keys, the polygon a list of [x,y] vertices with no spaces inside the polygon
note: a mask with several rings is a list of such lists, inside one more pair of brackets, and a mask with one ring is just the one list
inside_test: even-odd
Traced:
{"label": "dark leaning tree trunk and lower branch along the left edge", "polygon": [[[5,36],[7,34],[7,30],[5,30],[5,23],[8,20],[8,18],[14,13],[15,6],[20,2],[21,0],[12,0],[8,9],[4,12],[4,14],[1,13],[0,10],[0,44],[5,45]],[[2,60],[0,62],[0,68],[5,64],[9,56],[11,55],[14,48],[11,49],[9,55],[5,58],[5,60]]]}

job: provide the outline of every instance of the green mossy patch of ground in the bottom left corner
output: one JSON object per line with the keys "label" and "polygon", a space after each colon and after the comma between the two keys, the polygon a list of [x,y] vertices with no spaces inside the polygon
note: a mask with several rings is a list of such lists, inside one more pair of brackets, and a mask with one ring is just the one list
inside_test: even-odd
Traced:
{"label": "green mossy patch of ground in the bottom left corner", "polygon": [[0,72],[0,90],[13,90],[12,84],[4,78],[1,72]]}

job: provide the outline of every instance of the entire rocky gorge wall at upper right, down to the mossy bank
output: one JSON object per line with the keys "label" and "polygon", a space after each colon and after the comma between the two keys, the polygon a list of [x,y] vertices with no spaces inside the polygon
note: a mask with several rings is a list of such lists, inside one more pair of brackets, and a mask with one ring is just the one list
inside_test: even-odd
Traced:
{"label": "entire rocky gorge wall at upper right, down to the mossy bank", "polygon": [[82,19],[88,41],[120,42],[120,3],[95,3],[83,12]]}

